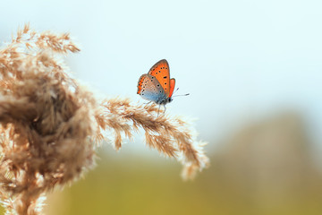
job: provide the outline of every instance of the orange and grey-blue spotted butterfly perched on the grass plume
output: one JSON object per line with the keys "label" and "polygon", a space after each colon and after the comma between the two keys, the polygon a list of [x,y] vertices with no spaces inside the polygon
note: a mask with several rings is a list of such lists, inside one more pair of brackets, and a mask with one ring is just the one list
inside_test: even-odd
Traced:
{"label": "orange and grey-blue spotted butterfly perched on the grass plume", "polygon": [[[170,79],[169,64],[163,59],[154,64],[148,73],[140,76],[137,94],[165,107],[165,104],[173,100],[174,85],[175,79]],[[189,94],[184,96],[186,95]]]}

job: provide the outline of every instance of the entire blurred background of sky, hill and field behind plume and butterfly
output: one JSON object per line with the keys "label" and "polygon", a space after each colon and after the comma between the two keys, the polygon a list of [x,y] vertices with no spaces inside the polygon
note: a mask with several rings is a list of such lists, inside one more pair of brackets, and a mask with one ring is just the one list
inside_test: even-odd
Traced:
{"label": "entire blurred background of sky, hill and field behind plume and butterfly", "polygon": [[167,59],[180,88],[166,113],[195,119],[210,168],[182,182],[181,165],[143,134],[48,197],[47,214],[322,213],[322,2],[4,1],[0,41],[18,27],[71,32],[73,75],[99,98],[136,94]]}

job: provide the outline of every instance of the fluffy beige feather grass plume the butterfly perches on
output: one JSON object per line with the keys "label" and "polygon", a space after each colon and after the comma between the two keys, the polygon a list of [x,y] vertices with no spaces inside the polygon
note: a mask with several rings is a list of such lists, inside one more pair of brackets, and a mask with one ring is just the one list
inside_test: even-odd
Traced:
{"label": "fluffy beige feather grass plume the butterfly perches on", "polygon": [[68,74],[63,58],[79,52],[69,34],[25,25],[0,49],[0,197],[6,214],[40,214],[46,193],[93,168],[96,147],[114,148],[142,128],[149,147],[182,162],[191,178],[208,165],[202,142],[179,117],[129,99],[99,103]]}

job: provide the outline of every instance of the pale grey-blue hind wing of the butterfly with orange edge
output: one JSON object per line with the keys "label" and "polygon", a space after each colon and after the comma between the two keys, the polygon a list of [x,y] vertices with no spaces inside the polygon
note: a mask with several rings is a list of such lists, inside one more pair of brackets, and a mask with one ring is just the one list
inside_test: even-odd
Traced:
{"label": "pale grey-blue hind wing of the butterfly with orange edge", "polygon": [[137,94],[143,99],[154,101],[157,104],[160,104],[167,98],[165,90],[163,90],[157,78],[150,74],[142,74],[140,76]]}

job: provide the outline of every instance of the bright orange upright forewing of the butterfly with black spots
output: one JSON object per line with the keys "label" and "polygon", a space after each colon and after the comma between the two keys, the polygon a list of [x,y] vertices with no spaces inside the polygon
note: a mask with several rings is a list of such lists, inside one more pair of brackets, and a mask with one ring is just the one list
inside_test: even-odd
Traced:
{"label": "bright orange upright forewing of the butterfly with black spots", "polygon": [[165,97],[168,98],[170,94],[170,68],[167,61],[165,59],[158,61],[151,67],[148,74],[157,78],[165,91]]}

